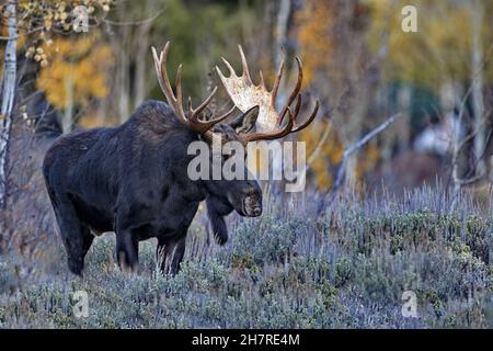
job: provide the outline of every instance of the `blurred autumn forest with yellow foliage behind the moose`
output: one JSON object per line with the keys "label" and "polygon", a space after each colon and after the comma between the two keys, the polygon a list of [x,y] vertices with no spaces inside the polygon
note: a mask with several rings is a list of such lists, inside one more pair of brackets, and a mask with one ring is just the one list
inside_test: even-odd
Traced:
{"label": "blurred autumn forest with yellow foliage behind the moose", "polygon": [[[301,57],[305,88],[322,102],[301,135],[308,141],[311,186],[329,191],[343,150],[397,112],[404,118],[345,165],[348,182],[367,190],[385,183],[402,192],[437,179],[457,189],[491,178],[489,1],[413,1],[417,33],[402,31],[406,3],[398,0],[13,2],[19,34],[14,135],[21,124],[37,134],[117,125],[144,100],[163,100],[151,45],[172,41],[170,70],[184,64],[184,87],[194,100],[220,87],[213,67],[221,56],[239,64],[237,44],[267,84],[285,47],[289,58]],[[79,4],[89,9],[88,33],[71,26]],[[217,109],[227,103],[221,90]],[[5,174],[15,158],[1,163]],[[2,181],[9,183],[7,178]],[[11,181],[7,192],[19,186]]]}

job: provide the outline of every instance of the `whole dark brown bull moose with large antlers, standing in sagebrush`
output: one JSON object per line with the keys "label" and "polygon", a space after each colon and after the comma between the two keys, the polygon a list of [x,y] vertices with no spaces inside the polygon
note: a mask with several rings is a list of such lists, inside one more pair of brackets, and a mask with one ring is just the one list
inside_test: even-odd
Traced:
{"label": "whole dark brown bull moose with large antlers, standing in sagebrush", "polygon": [[[298,58],[297,84],[278,113],[274,106],[284,56],[274,87],[267,91],[263,79],[259,86],[252,83],[241,46],[242,76],[237,76],[226,59],[230,77],[216,67],[233,107],[222,115],[210,116],[207,105],[216,87],[196,109],[188,98],[185,111],[181,65],[176,94],[167,73],[169,49],[168,42],[158,56],[152,47],[158,80],[168,104],[147,101],[121,126],[73,132],[58,138],[46,152],[43,173],[68,267],[74,274],[82,274],[94,236],[105,231],[116,234],[116,259],[122,269],[135,270],[139,241],[157,238],[161,270],[175,274],[184,256],[187,229],[202,201],[206,202],[216,240],[225,244],[228,230],[223,217],[233,210],[241,216],[260,216],[261,188],[246,174],[243,180],[191,180],[187,165],[192,156],[187,155],[187,146],[197,140],[210,146],[215,134],[221,141],[234,140],[243,146],[282,138],[307,127],[317,115],[318,102],[303,123],[296,122],[302,81]],[[226,123],[236,107],[241,113]]]}

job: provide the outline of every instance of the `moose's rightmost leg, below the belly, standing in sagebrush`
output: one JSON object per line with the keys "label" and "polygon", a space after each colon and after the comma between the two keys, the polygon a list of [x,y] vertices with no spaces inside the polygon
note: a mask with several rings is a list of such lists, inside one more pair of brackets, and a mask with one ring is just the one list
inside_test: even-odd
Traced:
{"label": "moose's rightmost leg, below the belly, standing in sagebrush", "polygon": [[159,238],[156,260],[164,274],[175,275],[185,254],[186,233],[177,238]]}

